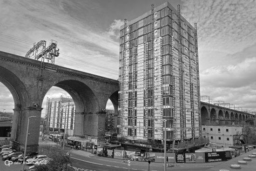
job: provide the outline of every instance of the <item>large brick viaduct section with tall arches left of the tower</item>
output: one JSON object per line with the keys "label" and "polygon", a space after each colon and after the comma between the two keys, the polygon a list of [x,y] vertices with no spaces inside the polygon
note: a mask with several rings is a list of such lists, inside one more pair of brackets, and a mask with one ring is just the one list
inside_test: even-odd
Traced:
{"label": "large brick viaduct section with tall arches left of the tower", "polygon": [[[42,65],[42,67],[41,67]],[[42,74],[40,74],[42,73]],[[0,52],[0,82],[14,99],[11,142],[25,147],[29,121],[27,151],[37,151],[42,101],[48,90],[57,86],[68,92],[75,104],[74,135],[102,139],[105,130],[106,104],[110,99],[118,108],[118,81],[41,61]]]}

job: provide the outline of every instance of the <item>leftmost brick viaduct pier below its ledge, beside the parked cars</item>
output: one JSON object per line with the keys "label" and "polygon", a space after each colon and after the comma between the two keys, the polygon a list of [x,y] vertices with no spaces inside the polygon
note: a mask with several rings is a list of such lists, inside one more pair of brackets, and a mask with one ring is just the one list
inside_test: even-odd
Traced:
{"label": "leftmost brick viaduct pier below its ledge, beside the parked cars", "polygon": [[41,111],[40,107],[24,107],[13,109],[13,125],[11,133],[11,144],[15,149],[24,151],[26,134],[27,134],[27,122],[28,117],[36,116],[36,118],[30,118],[27,138],[27,152],[38,151],[38,139],[40,130]]}

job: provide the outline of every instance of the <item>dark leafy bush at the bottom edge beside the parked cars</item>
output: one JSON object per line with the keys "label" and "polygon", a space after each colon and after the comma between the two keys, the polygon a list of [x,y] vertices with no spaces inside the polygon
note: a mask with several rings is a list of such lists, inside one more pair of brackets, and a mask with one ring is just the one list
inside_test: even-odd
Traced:
{"label": "dark leafy bush at the bottom edge beside the parked cars", "polygon": [[60,147],[51,147],[45,152],[47,157],[47,164],[35,165],[35,171],[65,171],[67,164],[72,164],[72,159],[67,156],[67,150]]}

